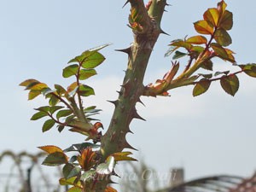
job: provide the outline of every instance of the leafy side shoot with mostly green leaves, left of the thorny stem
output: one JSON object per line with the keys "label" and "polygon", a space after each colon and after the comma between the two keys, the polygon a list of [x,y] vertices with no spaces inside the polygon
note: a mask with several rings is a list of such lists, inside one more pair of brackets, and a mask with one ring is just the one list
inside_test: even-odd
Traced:
{"label": "leafy side shoot with mostly green leaves, left of the thorny stem", "polygon": [[[55,84],[54,89],[49,88],[47,84],[41,83],[36,79],[27,79],[20,86],[29,90],[28,99],[32,100],[39,95],[43,95],[49,99],[49,105],[35,108],[37,113],[32,115],[32,120],[48,117],[44,121],[43,132],[49,131],[54,125],[58,131],[63,131],[65,127],[69,127],[70,131],[79,132],[89,139],[99,137],[97,127],[91,123],[96,121],[91,116],[99,113],[101,110],[96,106],[84,108],[82,97],[95,95],[95,91],[87,84],[80,81],[89,79],[96,75],[95,68],[102,64],[105,57],[99,52],[109,44],[102,45],[95,49],[85,50],[81,55],[76,56],[68,62],[68,66],[63,69],[63,78],[75,77],[75,82],[67,86],[65,89],[60,84]],[[93,130],[93,131],[90,131]],[[93,135],[94,134],[94,135]]]}

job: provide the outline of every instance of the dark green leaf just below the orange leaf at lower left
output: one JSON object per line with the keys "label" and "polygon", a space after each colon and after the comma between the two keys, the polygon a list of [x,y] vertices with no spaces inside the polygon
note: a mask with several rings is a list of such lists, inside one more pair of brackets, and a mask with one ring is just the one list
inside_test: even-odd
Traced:
{"label": "dark green leaf just below the orange leaf at lower left", "polygon": [[44,166],[60,166],[62,164],[67,163],[67,155],[61,152],[55,152],[53,154],[49,154],[44,162],[42,163]]}

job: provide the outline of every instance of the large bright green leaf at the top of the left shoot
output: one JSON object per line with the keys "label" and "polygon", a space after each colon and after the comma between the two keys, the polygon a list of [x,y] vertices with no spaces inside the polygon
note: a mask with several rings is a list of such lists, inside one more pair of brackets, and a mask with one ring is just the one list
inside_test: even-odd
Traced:
{"label": "large bright green leaf at the top of the left shoot", "polygon": [[[88,54],[86,51],[83,53],[83,55]],[[105,57],[99,53],[94,52],[93,54],[89,55],[88,57],[84,58],[84,61],[82,61],[82,67],[84,68],[95,68],[102,64],[102,62],[105,60]]]}

